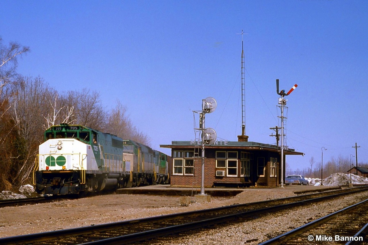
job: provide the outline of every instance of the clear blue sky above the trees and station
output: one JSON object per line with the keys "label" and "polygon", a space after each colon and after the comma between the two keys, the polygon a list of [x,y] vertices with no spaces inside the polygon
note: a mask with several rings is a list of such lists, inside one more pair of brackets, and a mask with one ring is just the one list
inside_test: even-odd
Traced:
{"label": "clear blue sky above the trees and station", "polygon": [[[194,139],[192,110],[212,96],[206,127],[241,134],[244,29],[246,134],[275,143],[276,79],[287,96],[287,142],[306,168],[341,154],[367,162],[368,1],[4,1],[0,35],[29,46],[18,72],[57,90],[90,88],[128,108],[151,146]],[[198,125],[198,118],[197,125]],[[352,159],[355,162],[355,159]]]}

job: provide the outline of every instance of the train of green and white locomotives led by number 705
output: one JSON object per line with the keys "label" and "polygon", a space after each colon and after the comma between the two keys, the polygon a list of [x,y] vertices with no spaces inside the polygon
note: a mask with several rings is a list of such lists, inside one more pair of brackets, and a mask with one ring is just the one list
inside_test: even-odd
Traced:
{"label": "train of green and white locomotives led by number 705", "polygon": [[45,131],[33,170],[40,194],[80,194],[169,182],[167,155],[82,125]]}

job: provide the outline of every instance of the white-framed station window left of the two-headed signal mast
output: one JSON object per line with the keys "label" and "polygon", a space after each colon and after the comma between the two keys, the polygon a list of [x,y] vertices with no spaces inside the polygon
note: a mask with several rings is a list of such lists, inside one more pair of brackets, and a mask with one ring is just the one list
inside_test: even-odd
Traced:
{"label": "white-framed station window left of the two-headed signal mast", "polygon": [[174,151],[174,175],[194,175],[194,151]]}

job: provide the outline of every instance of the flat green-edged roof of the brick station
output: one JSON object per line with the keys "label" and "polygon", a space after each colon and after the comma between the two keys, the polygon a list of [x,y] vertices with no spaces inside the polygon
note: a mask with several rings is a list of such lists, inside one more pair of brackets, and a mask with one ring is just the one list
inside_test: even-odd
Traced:
{"label": "flat green-edged roof of the brick station", "polygon": [[[161,148],[175,149],[193,149],[194,147],[201,147],[202,143],[199,141],[172,141],[171,145],[160,145]],[[260,150],[268,152],[280,152],[281,147],[276,145],[264,144],[252,141],[217,141],[211,145],[205,145],[205,149],[220,149],[220,150]],[[294,149],[286,147],[284,148],[284,155],[301,155],[304,153],[296,152]]]}

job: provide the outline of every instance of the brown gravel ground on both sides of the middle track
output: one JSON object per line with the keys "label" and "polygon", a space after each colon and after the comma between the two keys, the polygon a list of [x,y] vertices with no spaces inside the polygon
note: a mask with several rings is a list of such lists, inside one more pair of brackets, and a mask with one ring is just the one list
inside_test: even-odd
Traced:
{"label": "brown gravel ground on both sides of the middle track", "polygon": [[[179,196],[116,194],[100,195],[81,199],[61,200],[20,207],[0,208],[0,237],[53,231],[93,224],[103,224],[142,217],[159,216],[177,212],[256,202],[294,196],[294,189],[247,189],[235,197],[211,197],[210,203],[192,203],[180,206]],[[170,244],[258,244],[268,236],[274,236],[294,228],[289,220],[299,217],[302,223],[351,205],[355,199],[364,199],[364,194],[339,198],[323,204],[289,210],[289,213],[268,214],[246,223],[232,224],[205,230],[173,240]],[[167,242],[166,242],[167,244]]]}

